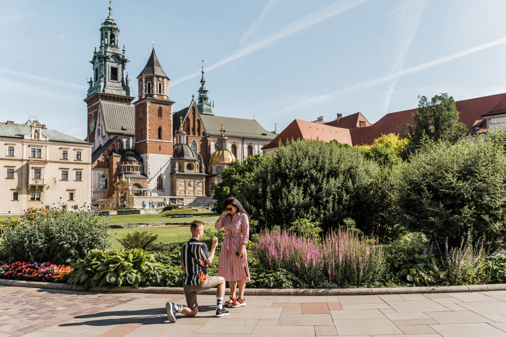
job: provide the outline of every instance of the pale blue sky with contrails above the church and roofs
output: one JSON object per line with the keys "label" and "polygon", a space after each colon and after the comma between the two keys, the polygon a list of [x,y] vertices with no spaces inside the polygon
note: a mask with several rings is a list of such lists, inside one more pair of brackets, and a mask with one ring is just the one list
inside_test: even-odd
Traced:
{"label": "pale blue sky with contrails above the church and roofs", "polygon": [[[221,116],[268,130],[293,119],[361,112],[370,122],[415,108],[506,91],[506,2],[113,1],[131,88],[152,42],[174,110],[206,87]],[[0,121],[28,115],[86,137],[86,77],[108,1],[0,0]],[[502,76],[502,74],[505,76]],[[193,76],[193,77],[192,77]]]}

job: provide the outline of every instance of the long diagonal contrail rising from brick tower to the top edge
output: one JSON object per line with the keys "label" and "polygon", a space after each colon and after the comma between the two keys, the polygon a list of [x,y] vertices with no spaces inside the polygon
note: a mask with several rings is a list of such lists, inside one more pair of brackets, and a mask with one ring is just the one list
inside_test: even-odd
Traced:
{"label": "long diagonal contrail rising from brick tower to the top edge", "polygon": [[[292,22],[291,24],[281,28],[277,32],[272,33],[264,38],[261,38],[261,39],[257,40],[256,42],[251,43],[241,49],[236,50],[234,53],[227,56],[226,58],[218,61],[217,63],[215,63],[209,67],[206,67],[206,70],[209,71],[209,70],[216,69],[220,66],[223,66],[223,65],[230,63],[234,60],[237,60],[243,56],[246,56],[251,53],[255,53],[255,52],[258,52],[262,49],[265,49],[279,39],[282,39],[286,36],[289,36],[293,33],[303,30],[304,28],[311,27],[311,26],[313,26],[317,23],[320,23],[322,21],[325,21],[333,16],[336,16],[338,14],[346,12],[346,11],[348,11],[360,4],[363,4],[366,1],[367,0],[342,0],[337,3],[332,4],[330,6],[327,6],[319,11],[316,11],[312,14],[306,15],[305,17],[303,17],[295,22]],[[184,82],[186,80],[189,80],[190,78],[197,77],[197,76],[200,76],[200,71],[196,71],[188,76],[174,80],[174,81],[172,81],[171,85],[172,86],[177,85],[181,82]]]}

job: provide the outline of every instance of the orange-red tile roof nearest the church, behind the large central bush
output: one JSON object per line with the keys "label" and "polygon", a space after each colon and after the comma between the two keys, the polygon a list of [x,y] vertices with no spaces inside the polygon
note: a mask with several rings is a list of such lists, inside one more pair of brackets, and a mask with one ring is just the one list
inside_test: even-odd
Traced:
{"label": "orange-red tile roof nearest the church, behind the large central bush", "polygon": [[279,140],[286,143],[289,140],[323,140],[329,142],[330,140],[337,140],[340,143],[352,144],[350,130],[340,127],[328,126],[315,122],[306,122],[296,119],[290,123],[276,138],[264,146],[262,149],[277,148]]}

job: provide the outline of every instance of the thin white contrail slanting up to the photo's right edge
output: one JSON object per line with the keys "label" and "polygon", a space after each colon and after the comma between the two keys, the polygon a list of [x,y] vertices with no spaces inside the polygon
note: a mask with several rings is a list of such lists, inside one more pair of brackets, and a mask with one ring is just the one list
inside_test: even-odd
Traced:
{"label": "thin white contrail slanting up to the photo's right edge", "polygon": [[501,37],[501,38],[499,38],[497,40],[488,42],[488,43],[480,44],[480,45],[478,45],[476,47],[472,47],[472,48],[466,49],[465,51],[462,51],[462,52],[459,52],[459,53],[456,53],[456,54],[453,54],[453,55],[450,55],[450,56],[446,56],[446,57],[443,57],[443,58],[440,58],[440,59],[437,59],[437,60],[433,60],[433,61],[430,61],[430,62],[422,63],[420,65],[417,65],[417,66],[414,66],[414,67],[411,67],[411,68],[407,68],[407,69],[401,70],[401,71],[399,71],[399,72],[397,72],[395,74],[391,74],[391,75],[388,75],[388,76],[376,78],[376,79],[373,79],[373,80],[370,80],[370,81],[366,81],[366,82],[363,82],[363,83],[360,83],[360,84],[355,84],[355,85],[349,86],[349,87],[341,89],[341,90],[333,91],[333,92],[330,92],[330,93],[327,93],[327,94],[324,94],[324,95],[320,95],[320,96],[314,97],[314,98],[306,100],[304,102],[301,102],[301,103],[289,106],[289,107],[287,107],[285,109],[282,109],[282,110],[279,110],[279,111],[272,112],[270,114],[264,115],[264,116],[260,117],[259,119],[265,118],[265,117],[268,117],[268,116],[272,116],[272,115],[277,115],[277,114],[283,113],[285,111],[297,109],[297,108],[304,107],[304,106],[309,106],[309,105],[315,106],[315,105],[318,105],[318,104],[330,102],[330,101],[333,101],[333,100],[345,97],[345,96],[347,96],[349,94],[352,94],[352,93],[355,93],[355,92],[359,92],[359,91],[362,91],[364,89],[368,89],[370,87],[373,87],[373,86],[376,86],[376,85],[379,85],[379,84],[383,84],[385,82],[389,82],[389,81],[398,79],[399,77],[411,75],[411,74],[417,73],[419,71],[426,70],[426,69],[432,68],[434,66],[437,66],[437,65],[440,65],[440,64],[443,64],[443,63],[446,63],[446,62],[453,61],[453,60],[461,58],[463,56],[467,56],[467,55],[470,55],[470,54],[473,54],[473,53],[476,53],[476,52],[488,49],[490,47],[493,47],[493,46],[496,46],[496,45],[499,45],[499,44],[502,44],[502,43],[505,43],[505,42],[506,42],[506,36],[505,37]]}

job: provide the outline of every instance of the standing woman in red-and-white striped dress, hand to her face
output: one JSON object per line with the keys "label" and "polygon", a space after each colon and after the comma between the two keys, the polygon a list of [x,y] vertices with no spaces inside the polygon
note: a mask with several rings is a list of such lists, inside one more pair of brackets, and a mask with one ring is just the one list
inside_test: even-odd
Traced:
{"label": "standing woman in red-and-white striped dress, hand to her face", "polygon": [[[246,258],[246,244],[249,240],[249,215],[241,203],[234,197],[225,200],[225,211],[216,221],[216,229],[225,229],[225,237],[218,265],[218,276],[230,283],[230,300],[225,306],[236,308],[246,305],[244,302],[244,288],[250,281],[248,261]],[[235,290],[239,283],[239,296],[235,297]]]}

